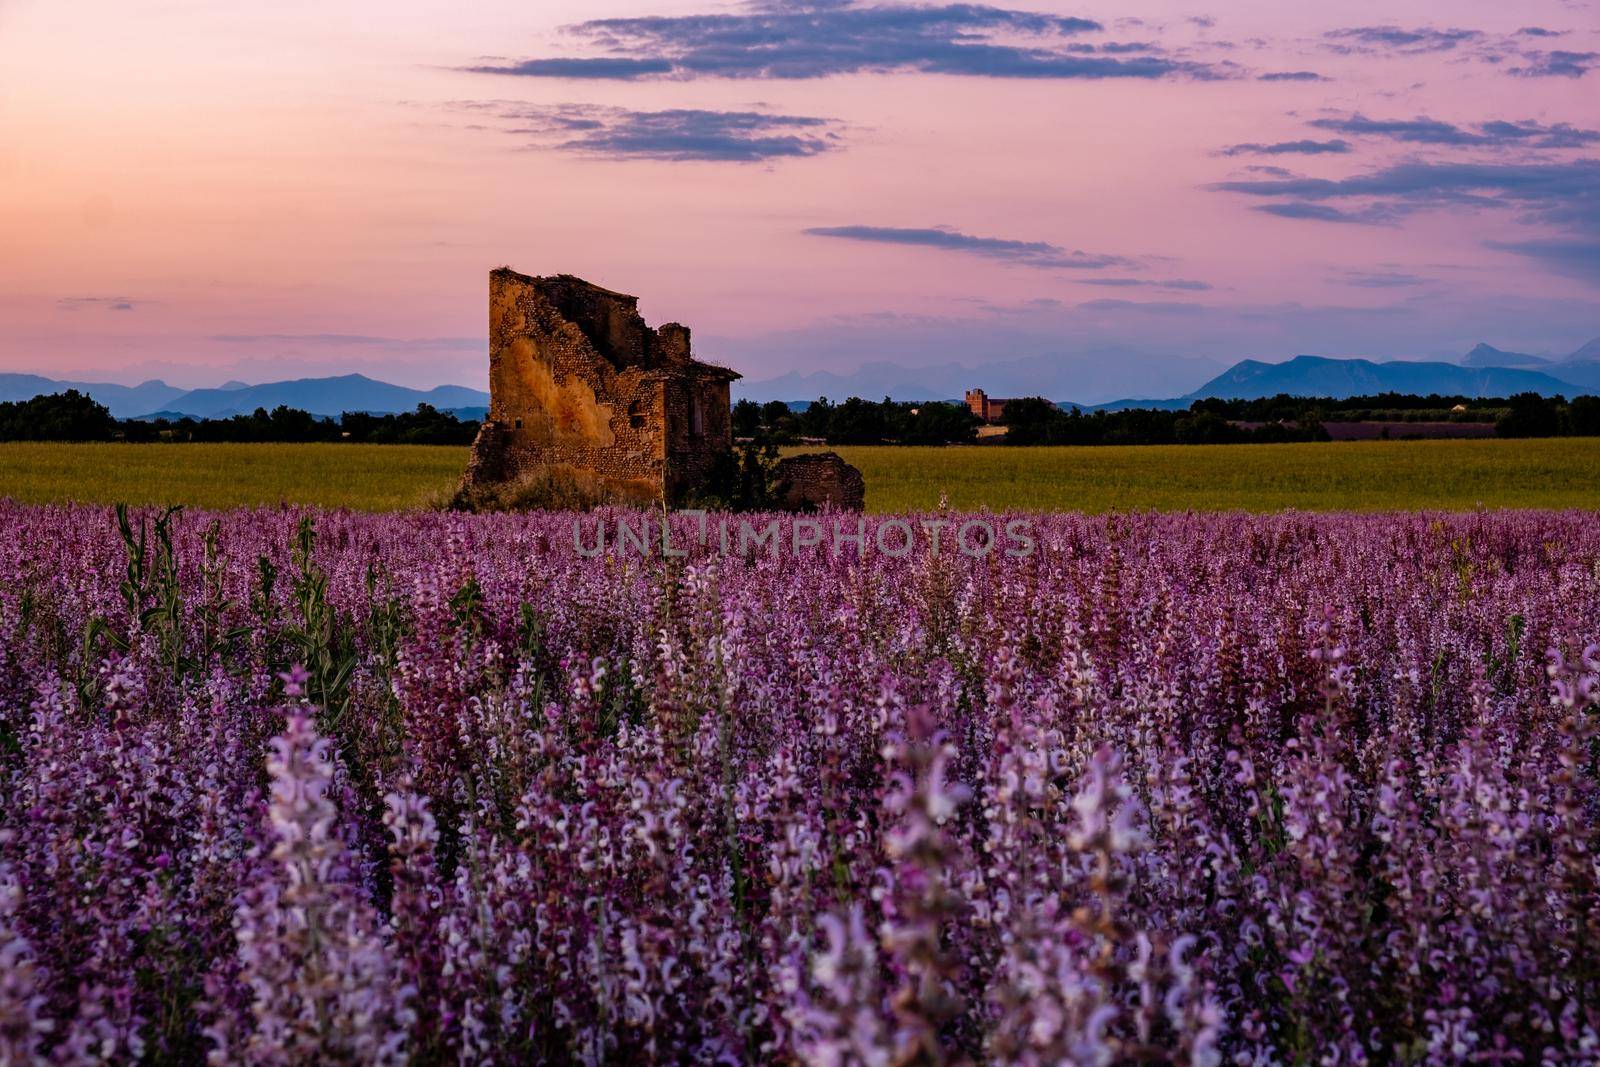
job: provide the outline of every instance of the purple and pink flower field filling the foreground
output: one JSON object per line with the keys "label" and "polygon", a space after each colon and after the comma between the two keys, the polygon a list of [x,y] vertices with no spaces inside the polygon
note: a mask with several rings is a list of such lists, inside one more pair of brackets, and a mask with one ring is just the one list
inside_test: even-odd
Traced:
{"label": "purple and pink flower field filling the foreground", "polygon": [[1592,514],[1032,533],[0,504],[0,1064],[1600,1061]]}

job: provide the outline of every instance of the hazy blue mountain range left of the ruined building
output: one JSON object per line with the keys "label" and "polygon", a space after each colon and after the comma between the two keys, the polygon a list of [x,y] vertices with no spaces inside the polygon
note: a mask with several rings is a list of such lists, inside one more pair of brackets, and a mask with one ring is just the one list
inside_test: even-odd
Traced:
{"label": "hazy blue mountain range left of the ruined building", "polygon": [[414,411],[419,403],[430,403],[442,411],[456,411],[467,418],[480,418],[490,403],[490,395],[482,389],[467,389],[466,386],[406,389],[365,374],[296,378],[261,386],[227,382],[214,389],[178,389],[163,381],[115,386],[110,382],[56,381],[38,374],[0,374],[0,400],[29,400],[40,394],[66,389],[77,389],[94,397],[118,419],[181,418],[186,414],[197,419],[226,419],[234,414],[250,414],[256,408],[270,411],[278,405],[323,416],[339,416],[346,411],[386,414]]}

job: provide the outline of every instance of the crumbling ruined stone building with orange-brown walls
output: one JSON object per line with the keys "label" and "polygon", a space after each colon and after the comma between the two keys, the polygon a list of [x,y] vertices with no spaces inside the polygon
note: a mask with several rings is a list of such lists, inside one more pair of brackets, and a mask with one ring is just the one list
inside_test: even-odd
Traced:
{"label": "crumbling ruined stone building with orange-brown walls", "polygon": [[490,411],[464,490],[541,469],[589,472],[619,499],[678,499],[733,445],[738,373],[690,355],[638,298],[570,274],[490,274]]}

